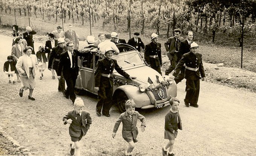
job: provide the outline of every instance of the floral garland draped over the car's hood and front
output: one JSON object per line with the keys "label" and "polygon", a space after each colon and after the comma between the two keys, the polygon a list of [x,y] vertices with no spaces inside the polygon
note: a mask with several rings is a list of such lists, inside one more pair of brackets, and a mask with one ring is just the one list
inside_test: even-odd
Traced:
{"label": "floral garland draped over the car's hood and front", "polygon": [[[112,77],[113,77],[113,84],[114,85],[120,85],[120,86],[122,86],[122,85],[132,85],[132,86],[136,86],[136,87],[138,87],[138,85],[137,84],[135,84],[135,83],[128,83],[128,81],[126,81],[126,80],[121,80],[121,79],[118,79],[117,78],[117,76],[115,76],[114,74],[111,74],[112,75]],[[152,86],[152,85],[151,85]],[[149,87],[147,87],[145,90],[146,91],[159,91],[163,86],[169,86],[169,83],[167,83],[167,82],[165,82],[165,81],[162,81],[162,82],[160,82],[160,84],[159,85],[157,85],[157,86],[154,86],[154,88],[152,88],[151,86],[149,86]]]}

